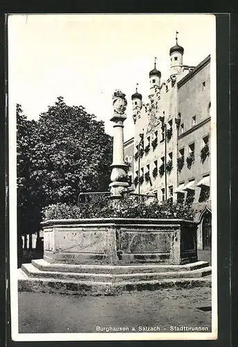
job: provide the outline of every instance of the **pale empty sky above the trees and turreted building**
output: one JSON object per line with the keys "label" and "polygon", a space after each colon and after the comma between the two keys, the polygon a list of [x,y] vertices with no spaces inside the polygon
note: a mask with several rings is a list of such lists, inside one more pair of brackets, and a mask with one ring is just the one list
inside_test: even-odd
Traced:
{"label": "pale empty sky above the trees and turreted building", "polygon": [[112,94],[120,89],[128,107],[124,140],[133,137],[131,95],[149,94],[154,67],[169,78],[169,49],[184,47],[183,63],[198,65],[214,53],[214,15],[10,15],[8,83],[10,103],[37,119],[58,96],[67,105],[83,105],[105,122],[113,135]]}

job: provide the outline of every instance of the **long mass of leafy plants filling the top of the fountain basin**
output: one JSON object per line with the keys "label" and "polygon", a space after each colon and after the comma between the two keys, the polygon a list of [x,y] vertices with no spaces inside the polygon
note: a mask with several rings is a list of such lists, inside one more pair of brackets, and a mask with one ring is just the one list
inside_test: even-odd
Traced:
{"label": "long mass of leafy plants filling the top of the fountain basin", "polygon": [[126,194],[115,202],[108,197],[96,196],[76,205],[57,203],[44,209],[44,220],[80,219],[80,218],[158,218],[194,220],[196,211],[192,205],[157,200],[140,201],[137,196]]}

